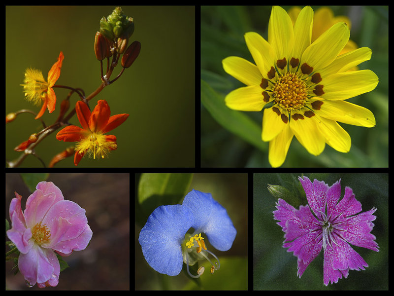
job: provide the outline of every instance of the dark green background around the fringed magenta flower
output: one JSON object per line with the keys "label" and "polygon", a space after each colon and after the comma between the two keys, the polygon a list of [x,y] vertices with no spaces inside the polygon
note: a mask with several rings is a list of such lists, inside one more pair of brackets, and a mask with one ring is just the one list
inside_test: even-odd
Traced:
{"label": "dark green background around the fringed magenta flower", "polygon": [[[297,277],[297,259],[283,248],[284,232],[276,224],[272,212],[275,199],[267,184],[282,185],[293,192],[293,198],[284,198],[296,209],[306,205],[305,192],[298,176],[325,181],[329,186],[341,179],[341,199],[345,186],[353,189],[361,202],[362,211],[373,207],[376,220],[371,233],[376,236],[380,249],[352,246],[369,267],[350,270],[348,278],[336,284],[323,284],[323,252]],[[389,288],[389,176],[388,174],[255,174],[253,182],[253,288],[255,290],[387,290]]]}

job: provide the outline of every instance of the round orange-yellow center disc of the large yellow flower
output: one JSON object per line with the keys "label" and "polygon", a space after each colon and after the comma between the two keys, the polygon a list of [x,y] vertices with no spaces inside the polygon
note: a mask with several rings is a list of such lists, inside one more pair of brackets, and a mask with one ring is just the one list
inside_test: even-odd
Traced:
{"label": "round orange-yellow center disc of the large yellow flower", "polygon": [[275,102],[289,112],[301,109],[308,98],[306,82],[292,72],[279,76],[272,87],[272,93]]}

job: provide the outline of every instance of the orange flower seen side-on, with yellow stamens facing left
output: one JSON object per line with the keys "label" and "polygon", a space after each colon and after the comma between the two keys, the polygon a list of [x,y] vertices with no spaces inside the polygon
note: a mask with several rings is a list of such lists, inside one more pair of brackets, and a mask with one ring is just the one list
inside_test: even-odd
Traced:
{"label": "orange flower seen side-on, with yellow stamens facing left", "polygon": [[48,72],[48,82],[45,81],[42,72],[37,69],[28,68],[25,72],[25,84],[21,85],[24,88],[26,99],[32,101],[35,105],[40,105],[43,101],[41,110],[35,116],[35,119],[41,117],[46,108],[48,108],[49,113],[55,110],[56,95],[52,86],[59,79],[64,58],[63,52],[61,51],[58,61],[53,64],[51,70]]}

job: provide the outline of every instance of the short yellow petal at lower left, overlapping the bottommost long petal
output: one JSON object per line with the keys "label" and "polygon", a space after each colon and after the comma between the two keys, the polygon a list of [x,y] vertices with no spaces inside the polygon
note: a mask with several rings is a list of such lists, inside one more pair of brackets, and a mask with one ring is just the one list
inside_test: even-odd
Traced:
{"label": "short yellow petal at lower left, overlapping the bottommost long petal", "polygon": [[[287,113],[287,114],[286,114]],[[287,126],[289,113],[283,113],[276,105],[264,109],[262,140],[271,141]]]}

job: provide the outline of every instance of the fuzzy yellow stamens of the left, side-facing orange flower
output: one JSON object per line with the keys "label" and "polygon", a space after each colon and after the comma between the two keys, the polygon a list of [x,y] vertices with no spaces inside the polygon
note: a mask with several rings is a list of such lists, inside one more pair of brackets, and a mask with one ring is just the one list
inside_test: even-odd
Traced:
{"label": "fuzzy yellow stamens of the left, side-facing orange flower", "polygon": [[21,85],[26,99],[35,105],[41,105],[45,98],[45,92],[48,90],[48,82],[45,81],[42,72],[33,68],[27,69],[23,82],[25,84]]}

